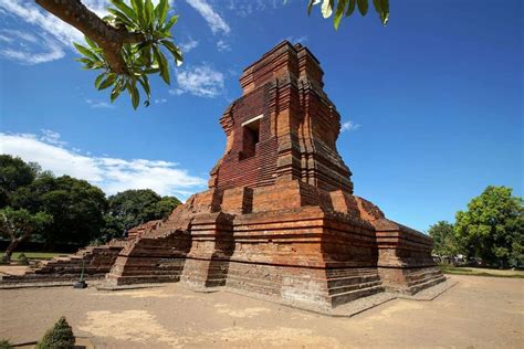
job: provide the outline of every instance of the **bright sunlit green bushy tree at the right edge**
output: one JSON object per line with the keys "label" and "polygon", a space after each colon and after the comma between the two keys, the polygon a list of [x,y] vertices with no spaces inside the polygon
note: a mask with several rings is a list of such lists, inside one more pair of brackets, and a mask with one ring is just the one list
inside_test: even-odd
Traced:
{"label": "bright sunlit green bushy tree at the right edge", "polygon": [[523,200],[511,188],[489,186],[457,212],[454,230],[470,256],[502,267],[524,264]]}

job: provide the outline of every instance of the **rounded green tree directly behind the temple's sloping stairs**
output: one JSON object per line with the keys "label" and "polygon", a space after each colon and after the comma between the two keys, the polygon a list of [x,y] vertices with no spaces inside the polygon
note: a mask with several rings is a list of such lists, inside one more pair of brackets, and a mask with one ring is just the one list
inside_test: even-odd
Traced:
{"label": "rounded green tree directly behind the temple's sloping stairs", "polygon": [[120,237],[133,226],[144,222],[164,219],[180,204],[175,197],[160,198],[150,189],[126,190],[108,198],[104,215],[105,239]]}

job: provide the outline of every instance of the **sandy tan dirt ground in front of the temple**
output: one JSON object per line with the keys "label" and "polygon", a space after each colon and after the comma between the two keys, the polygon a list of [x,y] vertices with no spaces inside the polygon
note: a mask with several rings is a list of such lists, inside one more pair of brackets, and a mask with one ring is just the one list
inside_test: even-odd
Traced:
{"label": "sandy tan dirt ground in front of the temple", "polygon": [[524,279],[450,276],[459,284],[431,302],[395,299],[333,318],[226,292],[178,284],[99,292],[0,290],[0,338],[36,340],[65,315],[97,348],[522,348]]}

